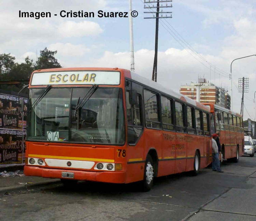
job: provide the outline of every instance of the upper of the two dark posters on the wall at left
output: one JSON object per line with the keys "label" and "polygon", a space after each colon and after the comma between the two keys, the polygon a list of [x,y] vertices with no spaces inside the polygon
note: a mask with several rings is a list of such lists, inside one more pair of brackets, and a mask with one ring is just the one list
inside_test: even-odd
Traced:
{"label": "upper of the two dark posters on the wall at left", "polygon": [[[24,100],[23,128],[27,127],[28,99]],[[18,97],[0,93],[0,129],[22,129],[22,112],[20,112]]]}

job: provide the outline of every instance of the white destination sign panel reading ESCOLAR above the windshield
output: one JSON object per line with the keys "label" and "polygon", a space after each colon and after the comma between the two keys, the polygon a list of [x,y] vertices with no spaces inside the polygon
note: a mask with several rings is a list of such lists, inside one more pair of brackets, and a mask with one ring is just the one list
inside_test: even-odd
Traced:
{"label": "white destination sign panel reading ESCOLAR above the windshield", "polygon": [[119,85],[117,71],[62,71],[34,73],[31,86],[36,85]]}

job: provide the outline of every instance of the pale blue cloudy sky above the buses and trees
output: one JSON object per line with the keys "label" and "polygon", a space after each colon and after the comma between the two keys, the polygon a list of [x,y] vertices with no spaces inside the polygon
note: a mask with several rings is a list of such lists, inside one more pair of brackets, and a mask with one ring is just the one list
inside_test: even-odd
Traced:
{"label": "pale blue cloudy sky above the buses and trees", "polygon": [[[152,0],[154,1],[154,0]],[[173,0],[172,18],[159,19],[157,82],[179,92],[204,77],[231,94],[230,64],[256,54],[256,0]],[[163,3],[165,5],[166,3]],[[168,3],[170,5],[170,3]],[[155,3],[156,6],[156,3]],[[94,12],[95,17],[61,17],[60,12]],[[40,50],[57,50],[62,67],[130,69],[129,18],[99,18],[98,11],[129,12],[129,0],[0,1],[0,54],[16,62],[36,60]],[[144,19],[144,0],[132,0],[135,72],[152,78],[155,19]],[[51,17],[20,18],[21,12]],[[54,16],[57,14],[57,16]],[[240,113],[239,77],[249,78],[244,120],[255,117],[256,56],[232,63],[233,111]],[[247,113],[248,112],[248,113]]]}

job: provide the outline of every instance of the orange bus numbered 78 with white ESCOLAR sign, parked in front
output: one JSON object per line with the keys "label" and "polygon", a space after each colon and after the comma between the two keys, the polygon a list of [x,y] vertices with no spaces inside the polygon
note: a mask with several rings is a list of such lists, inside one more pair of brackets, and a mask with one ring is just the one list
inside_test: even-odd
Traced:
{"label": "orange bus numbered 78 with white ESCOLAR sign, parked in front", "polygon": [[140,181],[211,163],[210,108],[118,68],[37,70],[29,84],[27,176]]}

